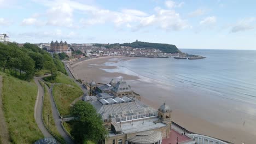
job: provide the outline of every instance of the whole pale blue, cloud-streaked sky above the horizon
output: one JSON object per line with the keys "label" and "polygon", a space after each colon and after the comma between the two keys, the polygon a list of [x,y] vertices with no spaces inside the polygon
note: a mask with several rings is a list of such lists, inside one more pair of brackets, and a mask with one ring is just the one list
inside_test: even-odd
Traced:
{"label": "whole pale blue, cloud-streaked sky above the horizon", "polygon": [[150,43],[256,50],[256,1],[0,0],[0,33],[17,43]]}

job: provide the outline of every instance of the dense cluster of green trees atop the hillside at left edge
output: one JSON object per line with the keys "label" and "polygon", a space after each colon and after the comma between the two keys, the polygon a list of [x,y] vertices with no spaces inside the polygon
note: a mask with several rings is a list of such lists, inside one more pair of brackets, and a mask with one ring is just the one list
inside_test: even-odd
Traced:
{"label": "dense cluster of green trees atop the hillside at left edge", "polygon": [[56,71],[67,74],[65,65],[58,55],[52,57],[50,53],[30,43],[26,43],[22,47],[16,43],[0,43],[0,68],[4,73],[27,81],[30,81],[34,73],[41,69],[51,71],[53,76]]}

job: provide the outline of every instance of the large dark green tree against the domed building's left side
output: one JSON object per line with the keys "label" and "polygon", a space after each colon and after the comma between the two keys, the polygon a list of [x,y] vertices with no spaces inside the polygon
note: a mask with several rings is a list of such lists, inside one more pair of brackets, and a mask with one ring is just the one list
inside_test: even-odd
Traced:
{"label": "large dark green tree against the domed building's left side", "polygon": [[97,142],[106,139],[108,132],[103,127],[103,121],[90,103],[78,101],[71,108],[74,120],[71,135],[76,143]]}

